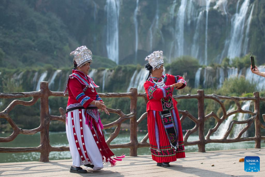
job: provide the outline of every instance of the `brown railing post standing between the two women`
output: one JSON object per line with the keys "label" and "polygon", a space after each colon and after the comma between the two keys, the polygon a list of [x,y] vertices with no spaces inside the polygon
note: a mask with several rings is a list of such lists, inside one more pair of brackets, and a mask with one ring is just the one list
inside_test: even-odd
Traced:
{"label": "brown railing post standing between the two women", "polygon": [[137,120],[136,120],[136,106],[138,92],[136,88],[131,88],[131,113],[134,114],[133,118],[130,119],[130,143],[133,145],[130,147],[130,156],[137,156],[138,140],[137,140]]}

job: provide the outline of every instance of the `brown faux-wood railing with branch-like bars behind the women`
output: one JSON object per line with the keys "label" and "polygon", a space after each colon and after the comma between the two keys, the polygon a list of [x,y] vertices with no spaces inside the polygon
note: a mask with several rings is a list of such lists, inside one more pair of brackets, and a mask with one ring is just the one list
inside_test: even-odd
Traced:
{"label": "brown faux-wood railing with branch-like bars behind the women", "polygon": [[[114,98],[114,97],[128,97],[130,98],[130,114],[124,114],[120,109],[108,109],[110,113],[118,114],[120,116],[119,119],[115,120],[112,123],[104,125],[104,129],[115,127],[115,131],[110,134],[107,144],[110,148],[130,148],[130,156],[137,156],[137,148],[140,147],[148,147],[148,133],[142,139],[142,141],[138,142],[137,140],[137,126],[142,120],[147,118],[147,113],[142,114],[138,120],[136,120],[136,106],[137,106],[137,98],[143,97],[147,102],[147,97],[145,93],[138,93],[136,88],[131,88],[128,93],[99,93],[101,98]],[[33,97],[31,101],[23,101],[23,100],[14,100],[6,107],[5,110],[0,112],[0,118],[4,118],[8,121],[8,123],[13,128],[13,133],[8,137],[0,137],[0,142],[10,142],[16,138],[18,134],[25,135],[33,135],[37,132],[40,132],[41,142],[38,147],[29,147],[29,148],[0,148],[0,153],[19,153],[19,152],[40,152],[41,162],[49,161],[49,153],[52,151],[69,151],[69,147],[60,146],[60,147],[52,147],[50,145],[49,139],[49,125],[51,120],[59,120],[65,123],[65,110],[60,108],[61,116],[50,115],[49,106],[48,106],[48,97],[50,96],[64,96],[63,92],[52,92],[48,88],[48,82],[40,83],[40,90],[36,92],[22,92],[22,93],[0,93],[0,98],[25,98],[25,97]],[[67,97],[66,95],[65,97]],[[208,143],[235,143],[241,141],[255,141],[255,148],[260,148],[261,140],[265,140],[265,136],[261,136],[261,128],[265,128],[265,126],[260,122],[259,119],[259,104],[260,101],[265,101],[265,97],[259,97],[259,92],[254,92],[254,97],[226,97],[226,96],[218,96],[215,94],[205,95],[204,90],[198,90],[198,93],[195,95],[177,95],[173,96],[175,99],[197,99],[198,100],[198,118],[191,115],[187,110],[182,111],[179,110],[179,114],[181,114],[180,121],[183,122],[185,118],[191,119],[195,126],[192,129],[189,129],[184,136],[184,145],[198,145],[198,152],[205,152],[205,144]],[[40,108],[40,126],[35,129],[25,130],[17,127],[15,122],[10,117],[10,111],[16,105],[24,105],[24,106],[32,106],[37,100],[40,99],[41,108]],[[220,104],[222,108],[222,116],[219,118],[213,111],[207,115],[204,114],[204,100],[211,99]],[[231,112],[226,111],[224,103],[222,100],[232,100],[235,102],[237,109]],[[242,110],[239,101],[254,101],[254,112],[249,110]],[[243,113],[250,114],[251,118],[238,121],[232,120],[229,124],[229,127],[222,137],[222,139],[210,139],[210,136],[217,131],[218,127],[232,114]],[[204,135],[204,122],[209,118],[214,118],[217,121],[217,124],[214,128],[209,129],[206,137]],[[130,119],[130,142],[124,144],[114,144],[110,145],[111,141],[115,139],[121,129],[121,124]],[[263,120],[265,121],[265,114],[263,115]],[[250,125],[255,122],[255,136],[254,137],[241,137],[244,132],[250,127]],[[230,134],[234,124],[247,124],[245,128],[243,128],[237,135],[235,139],[227,139]],[[197,141],[188,142],[188,137],[198,130],[199,139]]]}

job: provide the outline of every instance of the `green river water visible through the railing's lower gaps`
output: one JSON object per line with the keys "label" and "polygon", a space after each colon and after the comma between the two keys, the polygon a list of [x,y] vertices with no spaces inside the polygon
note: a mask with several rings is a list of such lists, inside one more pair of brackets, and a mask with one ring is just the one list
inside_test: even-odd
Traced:
{"label": "green river water visible through the railing's lower gaps", "polygon": [[[0,133],[0,137],[7,137],[10,133]],[[145,133],[138,132],[138,141],[141,141],[145,136]],[[109,137],[109,134],[105,134],[105,137]],[[197,135],[192,135],[188,138],[188,141],[198,140]],[[111,144],[127,143],[130,141],[130,132],[120,133]],[[149,142],[149,141],[148,141]],[[0,147],[36,147],[40,143],[40,133],[34,135],[18,135],[15,140],[8,143],[0,143]],[[50,132],[50,144],[54,147],[68,146],[68,141],[65,132]],[[245,149],[254,148],[255,142],[240,142],[240,143],[210,143],[206,144],[206,151],[211,150],[228,150],[228,149]],[[264,141],[261,143],[261,147],[265,147]],[[129,148],[112,149],[113,153],[117,156],[124,153],[126,156],[129,155]],[[197,152],[198,146],[185,146],[185,152]],[[151,152],[148,147],[138,148],[138,155],[150,155]],[[40,153],[0,153],[0,163],[5,162],[26,162],[26,161],[39,161]],[[51,152],[50,160],[69,159],[71,154],[69,151],[66,152]]]}

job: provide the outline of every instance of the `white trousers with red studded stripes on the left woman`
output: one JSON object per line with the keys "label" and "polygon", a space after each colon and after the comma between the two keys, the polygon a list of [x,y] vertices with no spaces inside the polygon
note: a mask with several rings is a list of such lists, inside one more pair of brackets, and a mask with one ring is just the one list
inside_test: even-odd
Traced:
{"label": "white trousers with red studded stripes on the left woman", "polygon": [[[81,111],[81,113],[79,113]],[[82,114],[82,115],[81,115]],[[72,120],[73,115],[73,120]],[[82,121],[80,121],[82,118]],[[90,128],[86,125],[86,118],[84,116],[84,109],[75,109],[73,112],[68,111],[67,113],[67,123],[66,123],[66,135],[69,142],[69,148],[71,152],[71,156],[73,159],[73,166],[80,167],[83,165],[80,151],[82,152],[82,158],[86,160],[86,164],[88,164],[88,160],[86,156],[89,157],[91,164],[94,165],[94,170],[103,168],[103,161],[101,153],[96,145],[96,142],[93,138]],[[81,127],[83,130],[83,137],[81,137]],[[99,128],[100,129],[100,128]],[[74,130],[76,135],[74,135]],[[100,129],[101,130],[101,129]],[[97,132],[102,133],[102,132]],[[77,138],[77,139],[75,139]],[[76,143],[76,141],[78,141]],[[83,143],[85,145],[83,145]],[[78,146],[79,145],[79,146]],[[78,147],[80,150],[78,150]],[[86,148],[86,153],[84,148]]]}

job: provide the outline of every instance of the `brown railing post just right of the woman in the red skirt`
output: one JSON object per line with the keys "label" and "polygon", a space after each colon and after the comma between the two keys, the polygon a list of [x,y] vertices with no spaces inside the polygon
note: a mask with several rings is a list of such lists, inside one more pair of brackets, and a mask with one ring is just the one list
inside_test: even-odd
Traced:
{"label": "brown railing post just right of the woman in the red skirt", "polygon": [[198,90],[198,120],[199,125],[199,141],[198,152],[205,152],[205,137],[204,137],[204,90]]}

